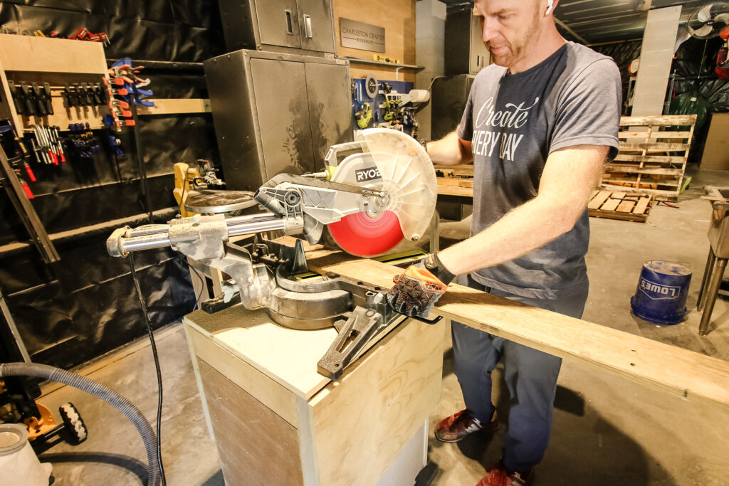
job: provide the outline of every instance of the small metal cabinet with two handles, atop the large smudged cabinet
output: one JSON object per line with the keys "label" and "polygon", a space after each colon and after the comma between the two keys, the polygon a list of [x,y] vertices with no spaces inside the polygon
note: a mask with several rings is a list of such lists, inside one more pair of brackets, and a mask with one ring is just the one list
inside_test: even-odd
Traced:
{"label": "small metal cabinet with two handles, atop the large smudged cabinet", "polygon": [[332,0],[219,0],[227,50],[335,52]]}

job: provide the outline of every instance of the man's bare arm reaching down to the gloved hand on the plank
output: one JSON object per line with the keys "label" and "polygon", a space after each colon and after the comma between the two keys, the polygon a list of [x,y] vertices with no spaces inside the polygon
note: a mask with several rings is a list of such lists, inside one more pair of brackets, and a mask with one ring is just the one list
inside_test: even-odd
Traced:
{"label": "man's bare arm reaching down to the gloved hand on the plank", "polygon": [[509,262],[572,230],[600,180],[607,152],[607,146],[593,145],[552,152],[537,197],[472,238],[440,251],[438,258],[451,273],[470,273]]}

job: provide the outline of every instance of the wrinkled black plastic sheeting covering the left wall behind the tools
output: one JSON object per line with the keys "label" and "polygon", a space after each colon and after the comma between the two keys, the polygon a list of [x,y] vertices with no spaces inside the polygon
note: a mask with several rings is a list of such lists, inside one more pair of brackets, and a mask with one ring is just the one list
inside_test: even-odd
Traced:
{"label": "wrinkled black plastic sheeting covering the left wall behind the tools", "polygon": [[[107,59],[201,62],[225,52],[218,12],[217,2],[206,0],[2,1],[0,31],[69,36],[86,27],[109,35]],[[141,74],[152,79],[155,97],[208,97],[200,70],[155,68]],[[151,208],[141,195],[130,129],[117,134],[124,157],[111,155],[109,130],[95,130],[104,150],[93,161],[34,167],[39,181],[31,183],[36,195],[31,203],[39,219],[49,233],[72,231],[56,243],[57,264],[44,264],[33,246],[1,251],[27,242],[28,234],[0,190],[0,286],[36,362],[73,367],[146,332],[128,260],[106,254],[109,231],[85,227],[174,207],[174,163],[219,156],[210,114],[140,117],[138,129]],[[132,226],[145,223],[142,216]],[[155,327],[194,308],[187,262],[174,251],[139,252],[136,268]]]}

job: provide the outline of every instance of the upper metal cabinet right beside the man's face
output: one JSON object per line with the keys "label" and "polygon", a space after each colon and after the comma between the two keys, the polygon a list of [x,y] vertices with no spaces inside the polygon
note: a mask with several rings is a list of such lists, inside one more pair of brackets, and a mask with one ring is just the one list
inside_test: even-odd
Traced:
{"label": "upper metal cabinet right beside the man's face", "polygon": [[458,4],[446,11],[445,74],[478,74],[491,60],[472,10],[470,4]]}

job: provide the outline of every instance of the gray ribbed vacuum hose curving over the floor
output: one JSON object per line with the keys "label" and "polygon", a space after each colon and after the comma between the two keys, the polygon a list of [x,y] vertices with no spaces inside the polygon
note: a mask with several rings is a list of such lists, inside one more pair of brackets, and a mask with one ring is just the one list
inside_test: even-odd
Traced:
{"label": "gray ribbed vacuum hose curving over the floor", "polygon": [[65,369],[49,367],[45,364],[35,363],[3,363],[0,364],[0,378],[9,376],[32,376],[46,380],[58,381],[66,385],[83,390],[117,407],[120,412],[132,421],[144,441],[147,450],[147,485],[157,486],[160,483],[160,464],[157,461],[157,442],[155,431],[139,409],[132,402],[120,394],[106,388],[106,386],[79,376]]}

